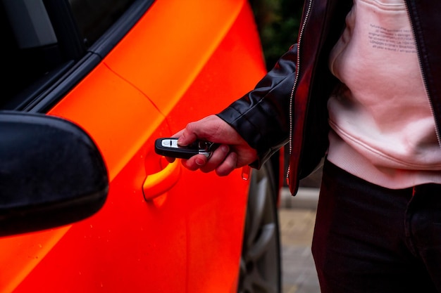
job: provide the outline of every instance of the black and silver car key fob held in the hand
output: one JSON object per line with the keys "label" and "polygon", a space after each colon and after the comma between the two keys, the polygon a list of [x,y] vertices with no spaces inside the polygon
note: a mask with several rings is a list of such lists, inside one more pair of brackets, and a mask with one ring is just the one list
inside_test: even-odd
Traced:
{"label": "black and silver car key fob held in the hand", "polygon": [[211,157],[219,143],[210,141],[195,141],[191,145],[178,145],[178,138],[158,138],[155,141],[155,152],[166,157],[176,157],[180,159],[190,159],[194,155],[205,155]]}

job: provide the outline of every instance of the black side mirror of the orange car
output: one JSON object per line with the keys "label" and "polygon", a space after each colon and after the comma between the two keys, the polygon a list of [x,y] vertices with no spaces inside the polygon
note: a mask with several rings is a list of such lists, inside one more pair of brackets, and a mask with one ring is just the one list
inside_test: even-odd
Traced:
{"label": "black side mirror of the orange car", "polygon": [[91,216],[108,193],[106,165],[75,124],[0,111],[0,236]]}

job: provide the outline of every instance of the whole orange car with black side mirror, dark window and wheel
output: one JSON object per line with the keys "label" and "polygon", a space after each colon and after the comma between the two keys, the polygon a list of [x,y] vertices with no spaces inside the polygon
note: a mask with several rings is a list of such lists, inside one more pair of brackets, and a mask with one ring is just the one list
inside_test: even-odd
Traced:
{"label": "whole orange car with black side mirror, dark window and wheel", "polygon": [[154,152],[265,74],[246,0],[0,13],[0,293],[280,292],[277,164],[245,181]]}

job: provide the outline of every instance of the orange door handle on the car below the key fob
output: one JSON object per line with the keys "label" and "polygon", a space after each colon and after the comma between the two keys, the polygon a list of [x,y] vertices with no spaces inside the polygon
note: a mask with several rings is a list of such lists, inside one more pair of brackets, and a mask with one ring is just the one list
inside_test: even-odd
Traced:
{"label": "orange door handle on the car below the key fob", "polygon": [[178,182],[180,173],[181,165],[177,159],[175,162],[167,164],[161,171],[148,175],[142,185],[144,199],[153,200],[155,197],[167,193]]}

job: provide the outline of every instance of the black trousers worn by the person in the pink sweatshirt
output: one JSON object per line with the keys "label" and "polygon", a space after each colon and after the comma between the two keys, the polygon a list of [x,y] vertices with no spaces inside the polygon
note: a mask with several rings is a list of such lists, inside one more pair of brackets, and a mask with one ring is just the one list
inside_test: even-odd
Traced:
{"label": "black trousers worn by the person in the pink sweatshirt", "polygon": [[390,190],[325,162],[312,251],[323,293],[441,292],[441,185]]}

